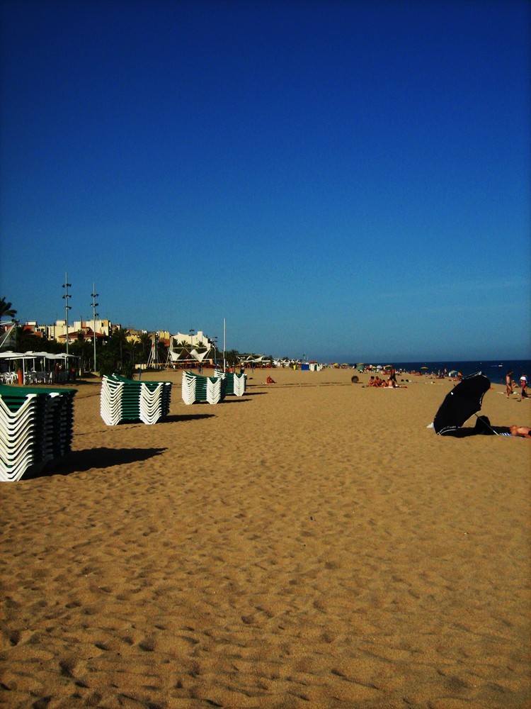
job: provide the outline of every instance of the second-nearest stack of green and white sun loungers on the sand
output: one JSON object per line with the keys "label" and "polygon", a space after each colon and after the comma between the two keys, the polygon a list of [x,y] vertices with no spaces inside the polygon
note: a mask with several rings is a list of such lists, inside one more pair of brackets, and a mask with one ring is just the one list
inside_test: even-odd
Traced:
{"label": "second-nearest stack of green and white sun loungers on the sand", "polygon": [[108,426],[157,423],[169,414],[170,401],[171,381],[134,381],[112,374],[101,382],[100,413]]}

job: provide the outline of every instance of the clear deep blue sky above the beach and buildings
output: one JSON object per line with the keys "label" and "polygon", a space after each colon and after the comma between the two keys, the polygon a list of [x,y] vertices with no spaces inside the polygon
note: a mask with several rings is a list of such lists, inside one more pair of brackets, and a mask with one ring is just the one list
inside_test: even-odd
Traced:
{"label": "clear deep blue sky above the beach and buildings", "polygon": [[341,361],[531,352],[527,1],[3,0],[0,295]]}

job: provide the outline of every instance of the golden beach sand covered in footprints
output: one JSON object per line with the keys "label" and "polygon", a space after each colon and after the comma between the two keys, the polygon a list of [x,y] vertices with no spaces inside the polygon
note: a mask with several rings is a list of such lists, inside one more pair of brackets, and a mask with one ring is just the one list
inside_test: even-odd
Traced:
{"label": "golden beach sand covered in footprints", "polygon": [[185,406],[146,373],[170,415],[115,427],[79,383],[69,457],[0,486],[0,704],[529,707],[531,441],[437,436],[452,383],[352,374]]}

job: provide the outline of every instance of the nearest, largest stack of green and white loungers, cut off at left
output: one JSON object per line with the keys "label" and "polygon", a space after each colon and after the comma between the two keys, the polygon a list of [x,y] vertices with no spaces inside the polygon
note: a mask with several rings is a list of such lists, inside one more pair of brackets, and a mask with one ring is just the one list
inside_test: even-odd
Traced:
{"label": "nearest, largest stack of green and white loungers, cut off at left", "polygon": [[0,385],[0,481],[20,480],[70,452],[76,389]]}

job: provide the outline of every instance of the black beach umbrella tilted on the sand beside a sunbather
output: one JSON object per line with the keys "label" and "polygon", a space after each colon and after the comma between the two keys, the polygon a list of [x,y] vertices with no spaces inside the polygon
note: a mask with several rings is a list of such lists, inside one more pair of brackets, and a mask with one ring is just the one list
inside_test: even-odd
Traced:
{"label": "black beach umbrella tilted on the sand beside a sunbather", "polygon": [[460,428],[474,413],[480,411],[484,393],[490,388],[490,380],[481,372],[465,376],[446,395],[435,414],[435,433],[444,435]]}

